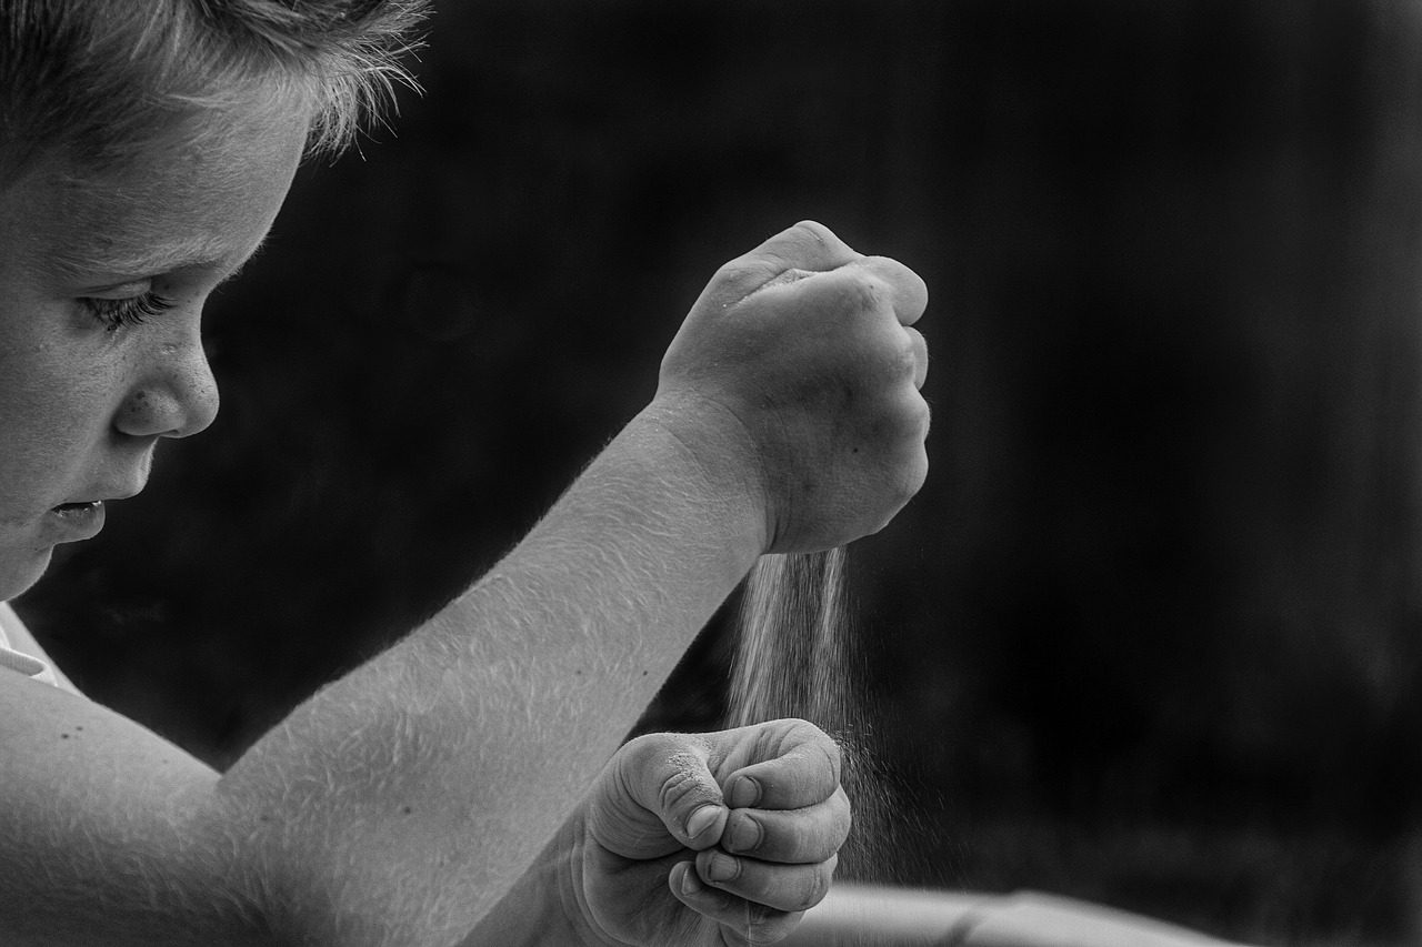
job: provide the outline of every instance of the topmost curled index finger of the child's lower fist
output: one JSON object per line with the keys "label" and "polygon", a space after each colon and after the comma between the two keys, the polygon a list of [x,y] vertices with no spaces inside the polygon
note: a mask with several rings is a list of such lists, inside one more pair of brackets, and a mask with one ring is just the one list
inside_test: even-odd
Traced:
{"label": "topmost curled index finger of the child's lower fist", "polygon": [[839,788],[839,747],[813,724],[801,721],[764,755],[771,758],[727,779],[725,799],[732,809],[803,809]]}

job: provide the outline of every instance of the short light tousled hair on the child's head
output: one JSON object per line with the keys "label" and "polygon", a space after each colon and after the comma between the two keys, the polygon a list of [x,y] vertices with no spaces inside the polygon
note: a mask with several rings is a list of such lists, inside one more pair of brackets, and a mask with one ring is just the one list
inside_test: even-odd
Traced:
{"label": "short light tousled hair on the child's head", "polygon": [[378,118],[425,0],[0,0],[0,185],[43,155],[107,168],[201,137],[253,92],[337,152]]}

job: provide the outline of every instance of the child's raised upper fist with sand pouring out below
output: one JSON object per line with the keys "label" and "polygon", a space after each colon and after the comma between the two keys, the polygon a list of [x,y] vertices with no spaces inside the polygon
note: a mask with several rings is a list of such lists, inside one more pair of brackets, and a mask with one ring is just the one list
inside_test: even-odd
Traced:
{"label": "child's raised upper fist with sand pouring out below", "polygon": [[657,398],[707,466],[742,472],[765,552],[879,530],[923,485],[929,367],[904,264],[799,223],[712,277],[661,363]]}

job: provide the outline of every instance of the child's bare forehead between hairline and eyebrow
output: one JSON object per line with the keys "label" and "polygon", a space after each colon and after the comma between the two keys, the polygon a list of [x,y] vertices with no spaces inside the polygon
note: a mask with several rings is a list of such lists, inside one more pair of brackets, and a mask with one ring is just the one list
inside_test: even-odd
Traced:
{"label": "child's bare forehead between hairline and eyebrow", "polygon": [[235,267],[280,208],[306,141],[296,109],[232,109],[195,139],[158,141],[102,172],[41,164],[0,196],[46,276],[135,279]]}

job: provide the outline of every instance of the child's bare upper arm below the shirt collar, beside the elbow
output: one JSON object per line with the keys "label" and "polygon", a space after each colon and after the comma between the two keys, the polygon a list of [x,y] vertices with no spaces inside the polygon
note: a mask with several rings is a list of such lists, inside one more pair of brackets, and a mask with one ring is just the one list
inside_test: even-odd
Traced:
{"label": "child's bare upper arm below the shirt collar, beside the elbow", "polygon": [[0,674],[0,943],[270,944],[216,785],[138,724]]}

